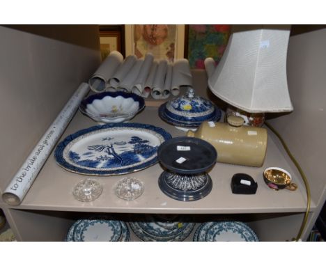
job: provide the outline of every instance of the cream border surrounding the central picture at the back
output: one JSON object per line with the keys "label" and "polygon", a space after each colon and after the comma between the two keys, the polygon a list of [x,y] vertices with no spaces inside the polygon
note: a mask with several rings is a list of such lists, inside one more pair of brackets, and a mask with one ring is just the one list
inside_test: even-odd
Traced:
{"label": "cream border surrounding the central picture at the back", "polygon": [[[137,51],[135,52],[135,37],[137,33],[135,33],[135,26],[150,26],[150,25],[125,25],[125,56],[129,56],[130,54],[136,54],[138,58],[144,56],[144,53],[139,56]],[[174,44],[174,56],[173,61],[179,58],[184,58],[185,53],[185,25],[153,25],[153,26],[176,26],[176,38]],[[148,51],[151,52],[151,51]],[[157,58],[157,56],[154,57]],[[160,57],[160,56],[159,56]],[[158,59],[158,58],[157,58]],[[169,59],[169,58],[168,58]]]}

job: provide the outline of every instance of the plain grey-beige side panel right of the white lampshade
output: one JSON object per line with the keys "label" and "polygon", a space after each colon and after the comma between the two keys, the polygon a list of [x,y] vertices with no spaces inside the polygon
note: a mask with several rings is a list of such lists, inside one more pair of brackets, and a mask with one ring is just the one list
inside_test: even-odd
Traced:
{"label": "plain grey-beige side panel right of the white lampshade", "polygon": [[326,199],[325,47],[326,29],[290,37],[287,74],[293,112],[270,121],[302,166],[318,209]]}

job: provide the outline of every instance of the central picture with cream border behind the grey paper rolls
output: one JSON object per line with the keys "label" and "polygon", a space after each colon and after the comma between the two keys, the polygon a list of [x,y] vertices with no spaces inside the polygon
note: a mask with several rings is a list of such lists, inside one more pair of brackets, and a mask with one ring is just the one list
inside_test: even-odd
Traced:
{"label": "central picture with cream border behind the grey paper rolls", "polygon": [[170,62],[183,58],[185,25],[134,24],[125,25],[125,56],[143,58],[150,52],[157,60]]}

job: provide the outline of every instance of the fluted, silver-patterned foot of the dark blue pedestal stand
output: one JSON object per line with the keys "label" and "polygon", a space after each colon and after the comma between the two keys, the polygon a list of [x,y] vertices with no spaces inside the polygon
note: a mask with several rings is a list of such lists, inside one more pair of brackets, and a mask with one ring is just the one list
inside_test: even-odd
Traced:
{"label": "fluted, silver-patterned foot of the dark blue pedestal stand", "polygon": [[180,175],[164,171],[158,183],[166,196],[177,201],[197,201],[207,196],[212,190],[212,179],[208,173]]}

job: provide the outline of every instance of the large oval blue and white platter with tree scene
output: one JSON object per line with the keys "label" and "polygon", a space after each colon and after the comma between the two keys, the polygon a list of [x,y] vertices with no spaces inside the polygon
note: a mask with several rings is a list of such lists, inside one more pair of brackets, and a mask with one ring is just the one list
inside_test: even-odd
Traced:
{"label": "large oval blue and white platter with tree scene", "polygon": [[98,125],[67,136],[56,147],[56,162],[87,175],[118,175],[157,163],[157,148],[171,139],[161,127],[140,123]]}

